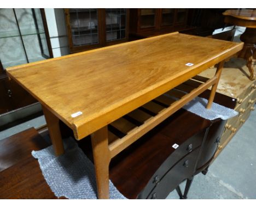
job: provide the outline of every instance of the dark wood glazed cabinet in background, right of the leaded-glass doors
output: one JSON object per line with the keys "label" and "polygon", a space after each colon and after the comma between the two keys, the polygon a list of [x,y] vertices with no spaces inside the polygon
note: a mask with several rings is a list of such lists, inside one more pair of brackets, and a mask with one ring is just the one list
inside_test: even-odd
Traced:
{"label": "dark wood glazed cabinet in background, right of the leaded-glass doors", "polygon": [[173,31],[189,33],[189,9],[130,9],[130,36],[145,38]]}

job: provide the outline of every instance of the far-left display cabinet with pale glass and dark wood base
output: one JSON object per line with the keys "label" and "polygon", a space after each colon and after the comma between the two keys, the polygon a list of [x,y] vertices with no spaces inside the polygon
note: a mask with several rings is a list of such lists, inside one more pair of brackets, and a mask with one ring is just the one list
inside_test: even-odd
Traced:
{"label": "far-left display cabinet with pale glass and dark wood base", "polygon": [[53,52],[44,9],[0,9],[0,16],[0,114],[3,114],[37,102],[9,81],[5,68],[53,58]]}

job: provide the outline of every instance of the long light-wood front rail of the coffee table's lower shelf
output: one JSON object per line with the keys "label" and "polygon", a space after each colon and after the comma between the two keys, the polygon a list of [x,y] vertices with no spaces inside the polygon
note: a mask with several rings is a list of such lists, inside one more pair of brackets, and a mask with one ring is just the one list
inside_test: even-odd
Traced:
{"label": "long light-wood front rail of the coffee table's lower shelf", "polygon": [[138,138],[143,136],[148,131],[152,130],[156,125],[160,124],[166,118],[168,118],[171,114],[178,111],[178,109],[182,108],[185,103],[188,103],[192,100],[195,96],[201,94],[203,91],[208,89],[211,85],[217,82],[217,77],[213,77],[209,79],[205,84],[200,85],[199,88],[192,90],[189,94],[185,95],[181,100],[174,102],[170,107],[166,108],[165,110],[161,111],[152,119],[149,119],[143,125],[133,129],[129,132],[125,137],[119,139],[112,144],[109,145],[110,155],[113,158],[117,155],[120,151],[127,148],[127,146],[131,145],[135,142]]}

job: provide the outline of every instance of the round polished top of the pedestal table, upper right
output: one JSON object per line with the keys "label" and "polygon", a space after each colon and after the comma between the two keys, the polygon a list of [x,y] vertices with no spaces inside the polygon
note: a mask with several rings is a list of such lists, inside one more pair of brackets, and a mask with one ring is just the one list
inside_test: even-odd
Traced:
{"label": "round polished top of the pedestal table, upper right", "polygon": [[256,20],[255,9],[229,9],[224,11],[223,15],[234,16],[243,20]]}

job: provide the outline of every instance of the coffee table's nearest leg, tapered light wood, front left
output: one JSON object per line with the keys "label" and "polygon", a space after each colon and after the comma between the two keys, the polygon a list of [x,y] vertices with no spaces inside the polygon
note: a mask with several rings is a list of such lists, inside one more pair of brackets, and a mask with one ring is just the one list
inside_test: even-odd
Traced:
{"label": "coffee table's nearest leg, tapered light wood, front left", "polygon": [[104,126],[91,134],[92,152],[99,199],[109,199],[109,163],[108,128]]}

